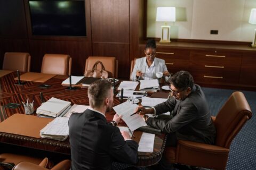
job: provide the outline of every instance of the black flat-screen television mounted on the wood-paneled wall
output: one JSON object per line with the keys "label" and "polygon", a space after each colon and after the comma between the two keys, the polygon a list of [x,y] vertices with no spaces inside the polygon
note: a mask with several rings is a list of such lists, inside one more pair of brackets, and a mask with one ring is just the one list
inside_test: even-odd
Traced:
{"label": "black flat-screen television mounted on the wood-paneled wall", "polygon": [[86,36],[84,0],[29,0],[33,35]]}

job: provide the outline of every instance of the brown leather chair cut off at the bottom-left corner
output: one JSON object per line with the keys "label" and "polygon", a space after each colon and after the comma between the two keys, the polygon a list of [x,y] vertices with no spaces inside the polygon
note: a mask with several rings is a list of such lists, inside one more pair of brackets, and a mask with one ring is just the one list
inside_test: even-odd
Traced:
{"label": "brown leather chair cut off at the bottom-left corner", "polygon": [[49,162],[48,158],[37,158],[10,153],[0,154],[0,167],[3,169],[11,169],[14,165],[17,165],[20,162],[29,162],[45,168],[53,166],[52,162]]}

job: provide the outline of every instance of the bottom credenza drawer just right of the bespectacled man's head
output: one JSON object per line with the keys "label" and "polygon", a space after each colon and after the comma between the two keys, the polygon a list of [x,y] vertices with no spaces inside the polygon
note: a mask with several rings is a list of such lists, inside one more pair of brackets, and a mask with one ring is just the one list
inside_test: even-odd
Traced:
{"label": "bottom credenza drawer just right of the bespectacled man's head", "polygon": [[190,71],[194,81],[203,83],[238,83],[239,72],[199,72]]}

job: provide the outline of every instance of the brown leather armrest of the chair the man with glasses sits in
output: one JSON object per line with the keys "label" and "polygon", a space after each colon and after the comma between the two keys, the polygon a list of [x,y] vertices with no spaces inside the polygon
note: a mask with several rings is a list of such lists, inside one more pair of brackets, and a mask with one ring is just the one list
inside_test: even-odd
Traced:
{"label": "brown leather armrest of the chair the man with glasses sits in", "polygon": [[206,143],[198,143],[186,140],[179,140],[178,147],[184,147],[187,149],[195,150],[196,152],[211,152],[215,154],[228,154],[229,149],[215,146],[215,145],[208,145]]}

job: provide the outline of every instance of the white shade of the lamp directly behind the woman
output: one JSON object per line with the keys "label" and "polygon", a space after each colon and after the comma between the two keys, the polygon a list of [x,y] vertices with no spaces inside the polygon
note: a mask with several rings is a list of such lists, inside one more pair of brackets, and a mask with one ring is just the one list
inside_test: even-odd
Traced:
{"label": "white shade of the lamp directly behind the woman", "polygon": [[175,7],[157,7],[156,21],[175,21]]}

